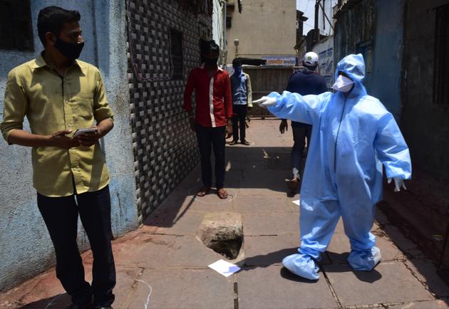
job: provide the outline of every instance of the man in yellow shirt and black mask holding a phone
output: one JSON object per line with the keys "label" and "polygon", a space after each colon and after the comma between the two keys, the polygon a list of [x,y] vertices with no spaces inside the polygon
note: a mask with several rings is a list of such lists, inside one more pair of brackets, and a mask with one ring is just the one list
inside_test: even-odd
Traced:
{"label": "man in yellow shirt and black mask holding a phone", "polygon": [[[110,245],[109,173],[99,139],[113,112],[98,68],[78,61],[84,42],[78,11],[48,6],[38,15],[44,51],[11,70],[0,129],[9,144],[33,147],[38,209],[56,251],[56,276],[71,308],[111,308],[115,265]],[[31,132],[23,130],[24,117]],[[93,132],[76,135],[76,130]],[[76,243],[78,215],[93,251],[92,285]]]}

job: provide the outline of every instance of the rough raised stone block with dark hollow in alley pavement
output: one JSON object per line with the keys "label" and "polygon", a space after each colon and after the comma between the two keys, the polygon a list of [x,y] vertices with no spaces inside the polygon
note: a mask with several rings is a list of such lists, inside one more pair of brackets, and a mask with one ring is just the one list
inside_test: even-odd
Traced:
{"label": "rough raised stone block with dark hollow in alley pavement", "polygon": [[234,213],[205,214],[198,238],[228,260],[237,258],[243,243],[242,216]]}

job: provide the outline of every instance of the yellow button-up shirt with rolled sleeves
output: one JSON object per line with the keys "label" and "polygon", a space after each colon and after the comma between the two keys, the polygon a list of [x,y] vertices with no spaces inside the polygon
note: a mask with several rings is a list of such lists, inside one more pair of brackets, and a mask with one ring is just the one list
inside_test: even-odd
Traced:
{"label": "yellow button-up shirt with rolled sleeves", "polygon": [[[33,134],[52,135],[92,127],[94,120],[113,120],[113,111],[98,68],[77,60],[61,77],[38,56],[8,74],[0,124],[6,141],[11,131],[22,129],[25,116]],[[33,147],[31,159],[33,185],[47,197],[66,197],[74,193],[74,187],[78,194],[97,191],[109,182],[98,143],[70,150]]]}

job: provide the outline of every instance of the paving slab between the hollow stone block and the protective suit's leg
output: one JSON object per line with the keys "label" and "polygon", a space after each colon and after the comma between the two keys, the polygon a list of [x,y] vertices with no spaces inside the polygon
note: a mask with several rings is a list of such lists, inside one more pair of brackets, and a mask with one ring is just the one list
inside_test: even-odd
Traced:
{"label": "paving slab between the hollow stone block and the protective suit's leg", "polygon": [[295,213],[243,214],[245,236],[299,235],[299,218]]}

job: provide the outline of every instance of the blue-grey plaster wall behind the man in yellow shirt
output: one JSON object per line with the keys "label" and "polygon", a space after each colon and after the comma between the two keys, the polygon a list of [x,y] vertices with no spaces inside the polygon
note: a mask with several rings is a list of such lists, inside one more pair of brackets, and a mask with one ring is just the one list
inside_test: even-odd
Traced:
{"label": "blue-grey plaster wall behind the man in yellow shirt", "polygon": [[[81,60],[100,68],[108,100],[115,112],[115,127],[105,137],[104,150],[111,174],[113,232],[119,236],[138,226],[129,122],[124,1],[31,1],[35,51],[0,50],[0,113],[3,112],[7,73],[11,68],[35,58],[42,50],[36,21],[38,11],[50,5],[80,11],[86,41]],[[24,128],[27,127],[25,122]],[[36,191],[31,182],[31,149],[8,146],[2,141],[0,153],[0,291],[4,291],[52,266],[54,254],[36,206]],[[81,249],[88,248],[81,227],[78,239]]]}

